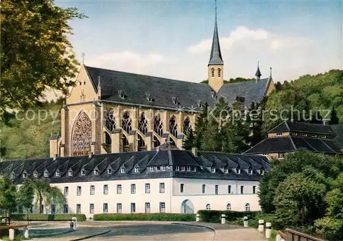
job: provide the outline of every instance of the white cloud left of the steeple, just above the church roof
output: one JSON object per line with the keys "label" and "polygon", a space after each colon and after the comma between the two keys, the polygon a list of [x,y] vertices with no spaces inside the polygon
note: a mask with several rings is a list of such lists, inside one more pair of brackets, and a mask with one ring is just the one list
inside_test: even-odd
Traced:
{"label": "white cloud left of the steeple, just above the church roof", "polygon": [[123,51],[94,56],[89,58],[85,64],[105,69],[147,74],[162,61],[163,56],[160,54],[143,55],[133,51]]}

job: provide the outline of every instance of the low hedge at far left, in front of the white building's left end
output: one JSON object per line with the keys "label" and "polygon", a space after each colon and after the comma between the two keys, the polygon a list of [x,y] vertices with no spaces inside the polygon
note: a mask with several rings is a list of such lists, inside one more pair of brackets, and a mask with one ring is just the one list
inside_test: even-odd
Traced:
{"label": "low hedge at far left, in front of the white building's left end", "polygon": [[84,214],[11,214],[12,220],[71,220],[73,217],[78,221],[86,220]]}

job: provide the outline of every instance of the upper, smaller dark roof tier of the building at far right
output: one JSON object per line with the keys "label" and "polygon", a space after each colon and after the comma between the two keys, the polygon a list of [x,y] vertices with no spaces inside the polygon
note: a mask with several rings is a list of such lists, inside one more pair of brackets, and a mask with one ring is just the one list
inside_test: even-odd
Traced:
{"label": "upper, smaller dark roof tier of the building at far right", "polygon": [[299,132],[299,133],[313,133],[313,134],[322,134],[322,135],[335,135],[335,132],[331,126],[323,124],[310,124],[303,122],[290,122],[285,121],[279,126],[276,126],[268,133],[283,133],[283,132]]}

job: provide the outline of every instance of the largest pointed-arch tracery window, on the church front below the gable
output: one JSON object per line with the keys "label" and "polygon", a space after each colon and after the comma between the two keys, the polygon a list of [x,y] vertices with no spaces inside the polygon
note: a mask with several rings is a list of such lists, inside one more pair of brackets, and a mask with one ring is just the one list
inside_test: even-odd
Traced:
{"label": "largest pointed-arch tracery window, on the church front below the gable", "polygon": [[76,119],[71,139],[71,149],[74,156],[88,154],[91,151],[92,123],[86,113],[81,113]]}

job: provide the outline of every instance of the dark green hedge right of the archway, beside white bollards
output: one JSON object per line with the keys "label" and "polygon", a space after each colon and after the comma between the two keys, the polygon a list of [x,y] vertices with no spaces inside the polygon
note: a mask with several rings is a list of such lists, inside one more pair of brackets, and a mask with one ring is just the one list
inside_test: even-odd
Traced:
{"label": "dark green hedge right of the archway, beside white bollards", "polygon": [[200,220],[202,222],[220,222],[222,214],[225,214],[226,222],[235,222],[237,219],[243,220],[244,216],[248,220],[255,219],[255,216],[261,214],[261,211],[219,211],[219,210],[199,210]]}

